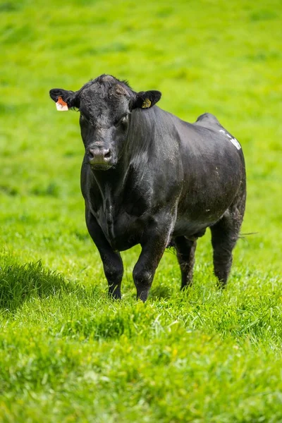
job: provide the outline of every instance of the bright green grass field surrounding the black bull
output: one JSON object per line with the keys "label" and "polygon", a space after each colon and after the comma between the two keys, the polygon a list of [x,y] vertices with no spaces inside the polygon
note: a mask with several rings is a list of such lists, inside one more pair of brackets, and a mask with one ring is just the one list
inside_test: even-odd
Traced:
{"label": "bright green grass field surrounding the black bull", "polygon": [[[0,2],[0,422],[282,422],[281,0]],[[247,210],[228,288],[209,234],[180,293],[106,295],[84,222],[78,114],[49,89],[102,73],[240,140]]]}

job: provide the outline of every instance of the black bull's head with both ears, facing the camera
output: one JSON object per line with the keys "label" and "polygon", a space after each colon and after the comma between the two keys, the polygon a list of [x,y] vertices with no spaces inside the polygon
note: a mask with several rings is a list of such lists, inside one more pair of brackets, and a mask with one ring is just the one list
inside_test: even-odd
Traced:
{"label": "black bull's head with both ears, facing the camera", "polygon": [[123,152],[133,109],[147,109],[161,98],[159,91],[136,93],[110,75],[85,84],[77,92],[53,89],[51,98],[80,111],[80,132],[85,158],[93,170],[116,166]]}

